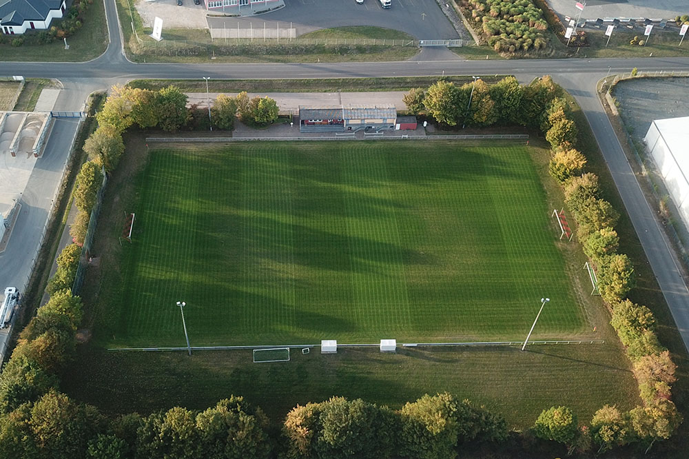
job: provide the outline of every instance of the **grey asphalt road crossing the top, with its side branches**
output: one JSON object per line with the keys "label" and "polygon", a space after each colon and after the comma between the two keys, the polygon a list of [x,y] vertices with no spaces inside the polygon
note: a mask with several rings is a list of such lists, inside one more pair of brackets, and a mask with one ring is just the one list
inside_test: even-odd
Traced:
{"label": "grey asphalt road crossing the top, with its side branches", "polygon": [[[679,263],[664,232],[646,202],[639,183],[622,151],[610,121],[596,94],[596,83],[608,72],[640,70],[689,70],[689,58],[642,59],[524,59],[508,61],[462,61],[441,59],[448,53],[422,52],[413,61],[362,63],[251,63],[251,64],[175,64],[132,63],[123,53],[123,39],[116,21],[114,0],[105,1],[110,45],[97,59],[85,63],[1,63],[8,75],[59,79],[65,90],[57,101],[59,110],[81,110],[90,92],[125,83],[135,78],[213,79],[251,78],[333,78],[365,76],[435,76],[513,74],[520,81],[551,74],[575,96],[593,128],[597,142],[613,174],[615,184],[634,228],[644,247],[650,266],[668,302],[677,328],[689,349],[689,289],[683,281]],[[431,60],[424,60],[428,56]]]}

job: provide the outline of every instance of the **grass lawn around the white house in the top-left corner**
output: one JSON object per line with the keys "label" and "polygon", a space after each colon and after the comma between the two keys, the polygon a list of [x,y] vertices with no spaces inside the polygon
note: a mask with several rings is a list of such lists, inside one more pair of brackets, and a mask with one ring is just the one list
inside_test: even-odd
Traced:
{"label": "grass lawn around the white house in the top-left corner", "polygon": [[9,44],[0,45],[0,59],[3,61],[82,62],[99,57],[107,48],[105,6],[102,1],[94,1],[89,6],[83,27],[74,32],[74,35],[67,39],[67,43],[70,45],[69,50],[65,50],[65,43],[61,40],[43,45],[26,43],[17,47]]}

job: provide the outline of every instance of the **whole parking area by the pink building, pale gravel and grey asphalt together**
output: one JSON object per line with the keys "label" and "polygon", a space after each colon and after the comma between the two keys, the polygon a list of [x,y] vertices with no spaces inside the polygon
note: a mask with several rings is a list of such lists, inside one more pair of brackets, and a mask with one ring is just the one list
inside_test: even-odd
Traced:
{"label": "whole parking area by the pink building, pale gravel and grey asphalt together", "polygon": [[[383,9],[378,0],[285,0],[285,8],[250,17],[209,17],[203,4],[184,0],[138,1],[136,3],[144,26],[152,27],[154,17],[163,19],[166,28],[216,28],[227,30],[253,28],[296,28],[296,36],[322,28],[348,26],[378,26],[407,32],[417,39],[457,39],[459,37],[449,19],[435,0],[392,0]],[[264,24],[265,23],[265,24]]]}

